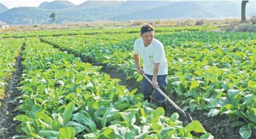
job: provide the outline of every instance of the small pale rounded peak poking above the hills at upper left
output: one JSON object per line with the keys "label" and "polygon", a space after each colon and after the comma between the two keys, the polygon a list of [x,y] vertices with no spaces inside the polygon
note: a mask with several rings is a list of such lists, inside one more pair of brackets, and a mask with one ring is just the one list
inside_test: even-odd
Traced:
{"label": "small pale rounded peak poking above the hills at upper left", "polygon": [[[44,6],[45,5],[45,6]],[[67,0],[55,0],[48,4],[43,4],[43,9],[50,9],[50,10],[61,10],[61,9],[67,9],[75,6],[75,4],[70,3]]]}

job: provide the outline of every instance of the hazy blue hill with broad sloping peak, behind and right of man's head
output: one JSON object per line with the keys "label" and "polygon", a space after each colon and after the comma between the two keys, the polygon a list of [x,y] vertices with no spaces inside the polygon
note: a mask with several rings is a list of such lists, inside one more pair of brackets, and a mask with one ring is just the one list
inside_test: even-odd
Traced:
{"label": "hazy blue hill with broad sloping peak, behind and right of man's head", "polygon": [[[183,10],[181,10],[183,9]],[[176,2],[140,12],[121,14],[112,19],[116,20],[150,20],[150,19],[184,19],[184,18],[218,18],[219,16],[208,11],[196,3]]]}

